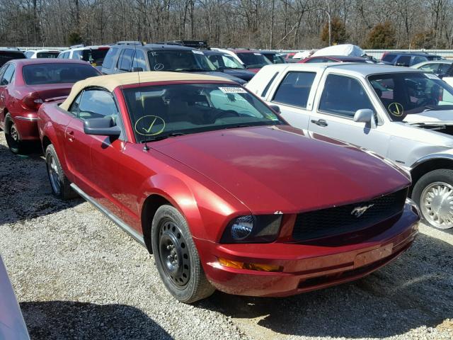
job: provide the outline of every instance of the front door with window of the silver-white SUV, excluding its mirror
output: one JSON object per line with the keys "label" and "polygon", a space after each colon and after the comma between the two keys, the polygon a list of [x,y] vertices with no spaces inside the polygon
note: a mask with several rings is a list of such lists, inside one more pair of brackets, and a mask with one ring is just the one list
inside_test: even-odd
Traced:
{"label": "front door with window of the silver-white SUV, excluding its mirror", "polygon": [[[387,126],[379,117],[370,94],[357,78],[327,74],[321,95],[316,99],[316,108],[311,112],[309,130],[386,156],[389,133],[386,132]],[[372,127],[355,122],[355,112],[360,109],[374,111],[377,125]]]}

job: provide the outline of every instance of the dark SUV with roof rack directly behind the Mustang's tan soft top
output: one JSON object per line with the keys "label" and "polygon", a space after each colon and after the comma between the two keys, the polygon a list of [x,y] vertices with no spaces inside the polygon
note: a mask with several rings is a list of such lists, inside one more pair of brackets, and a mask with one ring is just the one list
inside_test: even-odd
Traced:
{"label": "dark SUV with roof rack directly behind the Mustang's tan soft top", "polygon": [[103,74],[140,71],[195,72],[231,79],[243,85],[243,79],[219,72],[205,54],[192,47],[141,42],[117,42],[110,47],[102,65]]}

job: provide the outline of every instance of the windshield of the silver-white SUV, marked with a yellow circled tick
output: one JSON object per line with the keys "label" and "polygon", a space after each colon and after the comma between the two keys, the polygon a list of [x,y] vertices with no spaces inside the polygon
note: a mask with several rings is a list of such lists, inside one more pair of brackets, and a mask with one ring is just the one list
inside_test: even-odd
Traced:
{"label": "windshield of the silver-white SUV, marked with a yellow circled tick", "polygon": [[391,120],[429,110],[451,110],[453,87],[430,73],[390,73],[368,77]]}

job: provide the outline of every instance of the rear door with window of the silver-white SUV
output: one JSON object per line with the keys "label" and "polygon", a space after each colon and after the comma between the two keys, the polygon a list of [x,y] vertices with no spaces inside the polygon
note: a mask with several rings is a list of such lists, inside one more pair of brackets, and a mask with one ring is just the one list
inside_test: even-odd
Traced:
{"label": "rear door with window of the silver-white SUV", "polygon": [[[289,71],[280,77],[280,84],[268,101],[280,107],[287,122],[299,129],[308,129],[316,84],[321,77],[316,71]],[[271,81],[272,82],[272,81]],[[266,90],[265,90],[266,91]]]}

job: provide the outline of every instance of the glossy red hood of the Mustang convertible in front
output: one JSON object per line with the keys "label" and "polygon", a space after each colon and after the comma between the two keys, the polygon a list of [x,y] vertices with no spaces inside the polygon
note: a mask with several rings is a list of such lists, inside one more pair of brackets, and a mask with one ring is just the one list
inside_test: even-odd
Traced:
{"label": "glossy red hood of the Mustang convertible in front", "polygon": [[222,186],[255,214],[355,203],[409,185],[381,158],[289,125],[185,135],[152,147]]}

